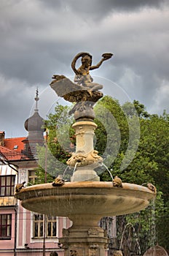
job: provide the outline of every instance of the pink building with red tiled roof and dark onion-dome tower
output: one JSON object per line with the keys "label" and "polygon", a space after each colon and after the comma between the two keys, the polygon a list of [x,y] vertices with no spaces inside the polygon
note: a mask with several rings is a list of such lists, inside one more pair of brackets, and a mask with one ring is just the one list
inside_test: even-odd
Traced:
{"label": "pink building with red tiled roof and dark onion-dome tower", "polygon": [[63,228],[71,226],[66,217],[44,216],[27,211],[16,200],[15,186],[34,184],[36,145],[44,146],[44,121],[36,108],[25,121],[26,138],[5,138],[0,131],[0,256],[50,256],[51,252],[64,255],[59,244]]}

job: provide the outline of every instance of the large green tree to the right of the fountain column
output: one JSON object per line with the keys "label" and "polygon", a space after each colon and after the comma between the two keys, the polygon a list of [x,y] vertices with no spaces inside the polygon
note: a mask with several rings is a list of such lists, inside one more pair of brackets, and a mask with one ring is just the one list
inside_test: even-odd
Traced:
{"label": "large green tree to the right of the fountain column", "polygon": [[[168,126],[168,114],[164,111],[162,116],[150,115],[146,112],[146,108],[138,101],[134,101],[133,104],[130,102],[125,102],[124,105],[120,106],[119,102],[111,97],[103,97],[97,106],[95,111],[99,113],[100,116],[106,116],[105,110],[108,109],[115,118],[118,126],[112,124],[113,119],[108,120],[108,124],[98,124],[98,130],[96,135],[98,136],[98,143],[96,143],[97,149],[100,152],[105,150],[105,142],[109,140],[107,132],[113,137],[111,138],[111,143],[117,143],[117,128],[119,129],[121,138],[118,154],[111,158],[112,162],[109,162],[109,170],[113,176],[119,176],[122,178],[123,182],[143,184],[146,186],[148,182],[154,184],[157,187],[158,195],[154,202],[156,210],[154,215],[150,211],[152,205],[146,208],[144,211],[138,214],[138,218],[135,218],[135,214],[127,215],[127,217],[122,217],[124,228],[128,222],[133,223],[133,219],[137,222],[133,223],[135,230],[139,231],[139,238],[141,243],[141,250],[144,252],[148,249],[151,244],[153,244],[152,236],[150,236],[150,230],[152,227],[149,223],[152,222],[153,226],[156,226],[156,238],[154,242],[158,241],[161,246],[168,249],[168,177],[169,177],[169,126]],[[136,111],[135,111],[136,110]],[[111,116],[109,114],[109,116]],[[97,116],[97,115],[96,115]],[[135,121],[139,118],[140,124],[140,138],[138,143],[138,133],[135,135],[135,130],[138,129],[135,126]],[[106,121],[105,121],[106,122]],[[108,129],[105,129],[106,125]],[[112,129],[112,132],[110,132]],[[130,132],[132,130],[132,132]],[[128,151],[128,156],[126,157],[127,144],[130,141],[130,136],[132,137],[132,143],[130,143],[130,150]],[[137,150],[135,148],[138,146]],[[116,147],[115,147],[116,148]],[[114,154],[114,149],[109,151],[110,154]],[[133,157],[133,153],[135,157]],[[127,159],[132,159],[130,157],[132,154],[133,160],[127,162]],[[128,165],[122,167],[123,163],[127,162]],[[111,181],[111,177],[108,172],[101,173],[101,180]],[[121,217],[118,217],[119,219]],[[117,218],[117,219],[118,219]],[[164,220],[165,219],[165,220]],[[120,229],[119,229],[120,230]],[[122,232],[122,230],[121,230]],[[121,233],[122,234],[122,233]],[[126,235],[128,236],[128,234]],[[143,239],[145,238],[145,239]]]}

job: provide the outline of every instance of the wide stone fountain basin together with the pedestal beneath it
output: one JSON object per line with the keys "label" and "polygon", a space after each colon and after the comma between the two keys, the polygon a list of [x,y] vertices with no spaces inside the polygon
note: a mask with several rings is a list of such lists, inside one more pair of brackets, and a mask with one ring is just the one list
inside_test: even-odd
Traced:
{"label": "wide stone fountain basin together with the pedestal beneath it", "polygon": [[63,237],[59,238],[65,256],[103,256],[108,237],[98,227],[101,217],[140,211],[155,193],[135,184],[113,187],[106,181],[74,181],[62,187],[52,187],[52,183],[25,187],[15,197],[30,211],[71,219],[71,227],[63,229]]}

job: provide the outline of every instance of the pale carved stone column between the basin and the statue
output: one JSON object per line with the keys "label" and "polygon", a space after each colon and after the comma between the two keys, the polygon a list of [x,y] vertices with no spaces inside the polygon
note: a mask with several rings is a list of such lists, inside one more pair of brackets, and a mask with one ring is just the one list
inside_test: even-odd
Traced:
{"label": "pale carved stone column between the basin and the statue", "polygon": [[68,159],[67,164],[74,167],[71,181],[99,181],[95,167],[103,162],[98,151],[93,148],[93,136],[97,125],[93,121],[76,121],[72,126],[76,135],[76,152]]}

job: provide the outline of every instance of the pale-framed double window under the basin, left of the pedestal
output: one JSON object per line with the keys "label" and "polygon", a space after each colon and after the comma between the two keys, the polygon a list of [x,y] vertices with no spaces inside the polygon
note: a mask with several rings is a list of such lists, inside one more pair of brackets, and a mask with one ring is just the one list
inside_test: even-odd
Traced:
{"label": "pale-framed double window under the basin, left of the pedestal", "polygon": [[[46,216],[45,218],[46,238],[57,237],[57,219],[56,217]],[[44,215],[34,214],[34,238],[44,237]]]}

